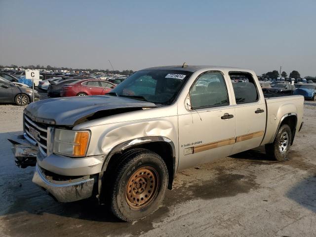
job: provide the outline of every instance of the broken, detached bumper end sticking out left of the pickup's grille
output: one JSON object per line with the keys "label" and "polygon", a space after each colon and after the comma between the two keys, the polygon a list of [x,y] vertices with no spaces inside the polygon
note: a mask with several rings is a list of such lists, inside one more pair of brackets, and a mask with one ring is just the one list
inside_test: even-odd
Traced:
{"label": "broken, detached bumper end sticking out left of the pickup's grille", "polygon": [[12,152],[15,157],[15,164],[20,168],[36,165],[38,147],[36,143],[27,138],[24,134],[8,138],[8,141],[13,145]]}

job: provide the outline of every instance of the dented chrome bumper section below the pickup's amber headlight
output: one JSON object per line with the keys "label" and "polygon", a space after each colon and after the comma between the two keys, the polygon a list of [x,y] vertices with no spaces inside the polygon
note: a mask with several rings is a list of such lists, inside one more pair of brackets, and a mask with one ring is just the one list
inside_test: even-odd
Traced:
{"label": "dented chrome bumper section below the pickup's amber headlight", "polygon": [[60,202],[78,201],[92,196],[95,178],[91,178],[90,175],[70,178],[54,180],[53,176],[45,174],[45,170],[37,164],[32,181]]}

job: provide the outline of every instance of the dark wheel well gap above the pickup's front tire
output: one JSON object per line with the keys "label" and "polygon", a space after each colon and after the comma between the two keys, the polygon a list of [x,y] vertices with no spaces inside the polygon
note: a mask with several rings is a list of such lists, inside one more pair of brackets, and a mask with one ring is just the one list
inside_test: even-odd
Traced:
{"label": "dark wheel well gap above the pickup's front tire", "polygon": [[[155,141],[155,142],[144,143],[144,144],[139,144],[139,145],[130,147],[124,150],[123,152],[126,152],[130,149],[135,149],[135,148],[143,148],[143,149],[147,149],[152,152],[155,152],[164,160],[168,169],[168,176],[169,176],[168,189],[172,189],[173,176],[175,172],[175,157],[173,155],[173,149],[171,145],[167,142]],[[118,152],[110,158],[110,160],[108,161],[105,175],[107,175],[108,172],[111,172],[111,170],[113,170],[114,167],[118,164],[118,160],[121,154],[122,152]]]}

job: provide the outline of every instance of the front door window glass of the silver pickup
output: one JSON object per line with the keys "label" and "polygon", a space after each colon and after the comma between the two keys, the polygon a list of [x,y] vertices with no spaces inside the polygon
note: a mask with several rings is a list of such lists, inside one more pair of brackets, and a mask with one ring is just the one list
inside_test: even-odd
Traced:
{"label": "front door window glass of the silver pickup", "polygon": [[219,72],[200,75],[190,90],[192,108],[229,105],[224,77]]}

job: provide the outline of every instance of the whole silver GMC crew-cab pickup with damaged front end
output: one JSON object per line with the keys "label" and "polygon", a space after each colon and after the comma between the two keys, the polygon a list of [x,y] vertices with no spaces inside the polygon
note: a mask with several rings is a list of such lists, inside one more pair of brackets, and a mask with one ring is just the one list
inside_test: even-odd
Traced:
{"label": "whole silver GMC crew-cab pickup with damaged front end", "polygon": [[134,221],[158,208],[178,170],[262,145],[286,160],[303,103],[264,95],[252,70],[155,67],[107,95],[31,103],[23,135],[9,140],[16,164],[35,165],[33,182],[57,201],[97,198]]}

